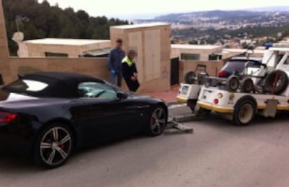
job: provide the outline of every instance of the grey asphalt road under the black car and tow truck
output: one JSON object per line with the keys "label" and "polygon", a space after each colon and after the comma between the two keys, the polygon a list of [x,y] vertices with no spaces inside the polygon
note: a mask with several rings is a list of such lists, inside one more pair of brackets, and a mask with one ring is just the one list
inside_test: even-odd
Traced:
{"label": "grey asphalt road under the black car and tow truck", "polygon": [[209,115],[186,123],[193,134],[126,138],[78,152],[56,170],[1,150],[0,186],[288,187],[288,122],[279,115],[235,127]]}

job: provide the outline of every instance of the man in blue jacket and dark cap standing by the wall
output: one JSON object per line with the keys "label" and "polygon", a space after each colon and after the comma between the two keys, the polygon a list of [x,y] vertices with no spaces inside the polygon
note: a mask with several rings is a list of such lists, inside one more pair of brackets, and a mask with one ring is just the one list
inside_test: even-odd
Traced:
{"label": "man in blue jacket and dark cap standing by the wall", "polygon": [[121,70],[121,61],[126,56],[124,50],[122,49],[122,40],[117,39],[116,47],[110,51],[108,58],[108,67],[110,70],[110,83],[115,83],[117,78],[117,86],[121,87],[122,81],[122,70]]}

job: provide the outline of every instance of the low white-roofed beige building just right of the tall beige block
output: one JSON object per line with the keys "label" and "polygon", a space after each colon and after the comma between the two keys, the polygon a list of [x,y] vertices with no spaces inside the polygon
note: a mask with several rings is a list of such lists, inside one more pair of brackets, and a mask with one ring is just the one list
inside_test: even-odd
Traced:
{"label": "low white-roofed beige building just right of the tall beige block", "polygon": [[180,60],[220,60],[223,47],[218,45],[171,44],[171,58]]}

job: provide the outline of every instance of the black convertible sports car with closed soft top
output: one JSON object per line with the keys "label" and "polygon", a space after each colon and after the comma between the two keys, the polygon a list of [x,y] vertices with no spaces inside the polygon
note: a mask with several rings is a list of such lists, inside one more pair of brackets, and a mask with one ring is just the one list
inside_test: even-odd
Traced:
{"label": "black convertible sports car with closed soft top", "polygon": [[158,136],[168,120],[163,101],[82,74],[25,75],[3,87],[0,99],[0,143],[26,147],[47,168],[63,165],[77,147]]}

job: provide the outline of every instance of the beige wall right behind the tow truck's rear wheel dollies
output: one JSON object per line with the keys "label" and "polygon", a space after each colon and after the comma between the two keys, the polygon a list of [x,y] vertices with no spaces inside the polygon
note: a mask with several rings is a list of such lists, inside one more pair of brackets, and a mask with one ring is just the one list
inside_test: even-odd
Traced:
{"label": "beige wall right behind the tow truck's rear wheel dollies", "polygon": [[224,65],[222,60],[220,61],[191,61],[191,60],[181,60],[179,62],[179,81],[184,81],[184,76],[188,71],[195,71],[197,65],[207,65],[207,73],[209,76],[218,76],[218,72]]}

